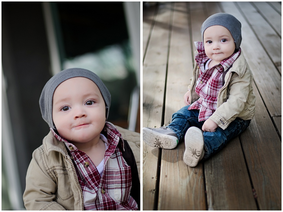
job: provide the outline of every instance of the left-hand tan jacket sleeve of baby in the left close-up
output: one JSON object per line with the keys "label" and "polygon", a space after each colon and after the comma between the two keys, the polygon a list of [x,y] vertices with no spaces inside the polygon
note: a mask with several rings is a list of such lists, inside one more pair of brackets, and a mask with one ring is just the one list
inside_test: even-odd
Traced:
{"label": "left-hand tan jacket sleeve of baby in the left close-up", "polygon": [[55,202],[56,181],[47,173],[42,160],[44,153],[40,147],[33,152],[27,170],[24,206],[27,210],[65,210]]}

